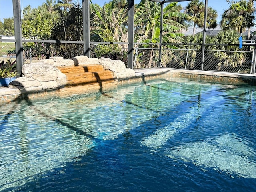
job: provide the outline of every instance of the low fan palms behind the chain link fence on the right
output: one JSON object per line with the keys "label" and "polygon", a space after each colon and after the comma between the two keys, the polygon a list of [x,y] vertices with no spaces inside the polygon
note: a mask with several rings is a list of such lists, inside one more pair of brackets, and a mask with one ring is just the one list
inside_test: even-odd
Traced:
{"label": "low fan palms behind the chain link fence on the right", "polygon": [[[239,34],[234,30],[219,32],[216,36],[206,35],[204,52],[204,70],[236,71],[238,66],[246,62],[245,53],[240,51],[237,44]],[[168,50],[167,66],[178,68],[201,69],[203,34],[182,39],[184,46],[180,50]],[[233,45],[231,45],[233,44]]]}

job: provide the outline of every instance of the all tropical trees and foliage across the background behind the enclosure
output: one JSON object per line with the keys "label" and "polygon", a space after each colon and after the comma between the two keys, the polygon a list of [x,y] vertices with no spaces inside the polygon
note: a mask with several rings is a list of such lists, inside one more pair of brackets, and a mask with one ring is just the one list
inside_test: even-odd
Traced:
{"label": "all tropical trees and foliage across the background behind the enclosure", "polygon": [[[222,28],[224,31],[215,38],[206,36],[206,43],[238,44],[240,32],[255,26],[255,0],[228,1],[230,8],[222,15]],[[201,58],[202,34],[184,37],[184,30],[188,25],[202,27],[204,24],[204,2],[202,0],[190,1],[183,8],[176,2],[165,3],[163,7],[162,43],[163,48],[176,49],[177,44],[185,44],[179,48],[184,49],[180,54],[172,50],[163,50],[161,62],[168,66],[171,62],[185,65],[182,58],[187,56],[186,62],[189,68],[199,68],[197,62]],[[128,42],[128,2],[127,0],[112,0],[104,6],[90,2],[90,40],[93,42]],[[207,28],[216,28],[217,12],[208,7]],[[134,42],[144,43],[136,45],[144,48],[144,52],[138,53],[137,61],[141,67],[155,67],[158,64],[160,42],[160,3],[140,0],[134,10]],[[1,34],[11,34],[13,31],[13,19],[4,19],[0,22]],[[38,8],[27,6],[23,10],[22,34],[24,38],[36,40],[69,40],[83,41],[82,28],[82,1],[81,0],[46,0]],[[232,30],[228,30],[232,29]],[[235,31],[236,32],[235,32]],[[194,45],[191,45],[194,44]],[[26,43],[24,49],[37,50],[36,56],[44,54],[46,58],[56,55],[71,58],[83,53],[82,44],[42,44]],[[148,48],[147,50],[145,48]],[[223,67],[236,68],[243,60],[240,53],[228,55],[226,50],[238,49],[238,46],[207,46],[207,50],[222,51],[206,52],[214,70],[222,70]],[[109,57],[112,59],[127,60],[127,44],[92,44],[90,51],[93,57]],[[166,65],[164,65],[166,63]]]}

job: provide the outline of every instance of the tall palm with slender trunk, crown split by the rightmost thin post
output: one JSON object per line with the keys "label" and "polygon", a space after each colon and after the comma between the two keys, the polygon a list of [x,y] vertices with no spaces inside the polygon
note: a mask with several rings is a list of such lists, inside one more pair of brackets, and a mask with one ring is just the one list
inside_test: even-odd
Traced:
{"label": "tall palm with slender trunk, crown split by the rightmost thin post", "polygon": [[[185,13],[189,16],[186,18],[188,22],[193,22],[193,37],[195,36],[196,26],[202,28],[204,26],[204,9],[205,5],[202,1],[195,0],[188,3],[185,8]],[[207,14],[207,27],[216,28],[217,27],[217,11],[212,7],[208,7]]]}

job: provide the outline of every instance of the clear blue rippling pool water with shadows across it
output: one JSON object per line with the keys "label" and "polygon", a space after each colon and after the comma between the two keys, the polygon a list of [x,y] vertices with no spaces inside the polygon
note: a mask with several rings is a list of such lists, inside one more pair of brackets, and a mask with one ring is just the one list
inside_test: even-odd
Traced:
{"label": "clear blue rippling pool water with shadows across it", "polygon": [[161,79],[0,112],[1,192],[256,191],[256,87]]}

